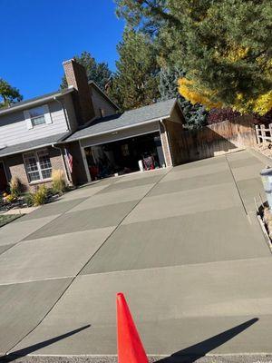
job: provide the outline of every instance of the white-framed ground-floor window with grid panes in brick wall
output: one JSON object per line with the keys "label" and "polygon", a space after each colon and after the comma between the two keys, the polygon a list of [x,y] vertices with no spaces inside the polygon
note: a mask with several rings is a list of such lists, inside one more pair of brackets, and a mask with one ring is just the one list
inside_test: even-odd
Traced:
{"label": "white-framed ground-floor window with grid panes in brick wall", "polygon": [[51,178],[52,165],[47,150],[25,153],[24,164],[29,182],[43,181],[44,179]]}

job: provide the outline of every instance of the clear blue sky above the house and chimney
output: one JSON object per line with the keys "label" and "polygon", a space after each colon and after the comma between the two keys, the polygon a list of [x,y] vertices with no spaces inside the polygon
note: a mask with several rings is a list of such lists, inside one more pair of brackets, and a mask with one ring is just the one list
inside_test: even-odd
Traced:
{"label": "clear blue sky above the house and chimney", "polygon": [[24,99],[59,88],[63,61],[89,51],[112,70],[123,22],[113,0],[0,0],[0,78]]}

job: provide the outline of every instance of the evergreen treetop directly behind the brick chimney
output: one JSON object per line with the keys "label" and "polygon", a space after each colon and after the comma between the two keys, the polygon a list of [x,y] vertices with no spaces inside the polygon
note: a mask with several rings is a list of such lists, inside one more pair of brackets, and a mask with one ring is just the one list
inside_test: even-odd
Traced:
{"label": "evergreen treetop directly behind the brick chimney", "polygon": [[[102,62],[98,63],[89,52],[83,52],[80,55],[75,55],[74,58],[79,64],[82,64],[86,70],[89,81],[95,82],[102,90],[104,90],[106,83],[112,76],[108,64]],[[67,81],[63,75],[61,88],[67,87]]]}

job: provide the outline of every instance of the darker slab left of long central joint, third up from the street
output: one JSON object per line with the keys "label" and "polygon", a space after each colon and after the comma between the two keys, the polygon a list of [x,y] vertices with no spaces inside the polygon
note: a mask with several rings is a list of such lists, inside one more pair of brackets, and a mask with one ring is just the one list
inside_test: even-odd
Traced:
{"label": "darker slab left of long central joint, third up from the street", "polygon": [[116,226],[131,211],[136,203],[137,201],[127,201],[92,208],[87,211],[65,213],[56,220],[44,225],[39,231],[27,236],[25,240],[36,240],[64,233]]}

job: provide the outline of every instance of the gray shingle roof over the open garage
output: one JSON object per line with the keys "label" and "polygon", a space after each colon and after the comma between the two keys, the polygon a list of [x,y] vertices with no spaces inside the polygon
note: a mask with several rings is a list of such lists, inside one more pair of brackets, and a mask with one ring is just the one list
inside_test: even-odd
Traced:
{"label": "gray shingle roof over the open garage", "polygon": [[173,98],[168,101],[153,103],[149,106],[144,106],[135,110],[126,111],[121,114],[113,114],[111,116],[94,120],[91,125],[83,128],[82,130],[74,132],[65,140],[65,142],[72,142],[73,140],[79,140],[84,137],[104,132],[111,132],[112,130],[134,126],[140,123],[146,123],[153,119],[156,120],[168,117],[170,116],[176,101],[177,100]]}

